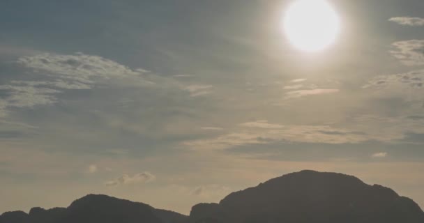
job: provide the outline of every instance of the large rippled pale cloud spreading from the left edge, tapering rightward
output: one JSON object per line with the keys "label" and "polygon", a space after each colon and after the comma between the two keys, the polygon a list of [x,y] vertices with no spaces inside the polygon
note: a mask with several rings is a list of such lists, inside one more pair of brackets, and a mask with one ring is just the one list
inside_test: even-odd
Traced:
{"label": "large rippled pale cloud spreading from the left edge, tapering rightward", "polygon": [[[6,116],[11,108],[33,108],[52,105],[66,91],[88,90],[113,86],[162,87],[181,91],[172,78],[160,77],[143,69],[131,69],[115,61],[82,53],[36,54],[22,56],[17,64],[28,68],[29,75],[0,85],[0,116]],[[192,86],[190,94],[202,95],[208,88]]]}

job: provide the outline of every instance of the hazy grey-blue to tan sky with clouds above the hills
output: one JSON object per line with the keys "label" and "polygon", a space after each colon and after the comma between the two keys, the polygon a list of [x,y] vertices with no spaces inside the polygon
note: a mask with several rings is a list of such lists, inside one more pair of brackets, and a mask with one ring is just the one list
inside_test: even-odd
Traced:
{"label": "hazy grey-blue to tan sky with clouds above the hills", "polygon": [[314,53],[291,2],[3,0],[0,213],[94,193],[188,214],[303,169],[424,207],[424,1],[333,0]]}

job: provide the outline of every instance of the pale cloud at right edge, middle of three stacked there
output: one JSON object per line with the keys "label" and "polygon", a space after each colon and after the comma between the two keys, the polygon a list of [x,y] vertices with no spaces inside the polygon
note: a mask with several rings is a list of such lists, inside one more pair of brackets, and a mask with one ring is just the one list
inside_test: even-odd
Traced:
{"label": "pale cloud at right edge, middle of three stacked there", "polygon": [[424,64],[424,40],[407,40],[392,44],[391,54],[407,66]]}

